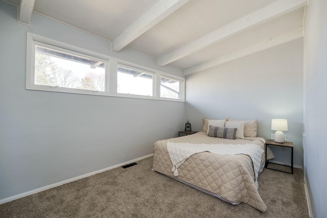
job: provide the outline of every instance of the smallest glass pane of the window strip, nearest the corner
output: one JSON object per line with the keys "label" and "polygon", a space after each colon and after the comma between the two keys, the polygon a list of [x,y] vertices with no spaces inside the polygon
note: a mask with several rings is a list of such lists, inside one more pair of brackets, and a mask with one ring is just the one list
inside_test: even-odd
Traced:
{"label": "smallest glass pane of the window strip, nearest the corner", "polygon": [[182,99],[181,82],[168,77],[161,77],[160,97],[168,99]]}

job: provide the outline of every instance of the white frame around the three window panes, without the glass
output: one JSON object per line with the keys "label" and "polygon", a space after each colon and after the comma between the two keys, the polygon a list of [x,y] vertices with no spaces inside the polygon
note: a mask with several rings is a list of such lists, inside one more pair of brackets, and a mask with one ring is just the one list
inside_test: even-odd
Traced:
{"label": "white frame around the three window panes, without the glass", "polygon": [[[34,84],[34,63],[35,63],[35,45],[48,47],[49,49],[59,50],[65,53],[71,53],[92,60],[99,60],[105,63],[105,91],[94,91],[77,88],[66,88],[66,87],[54,87],[46,85]],[[118,66],[126,66],[134,68],[135,70],[144,71],[147,74],[152,74],[152,92],[153,96],[137,95],[137,94],[125,94],[117,92],[117,75]],[[170,99],[160,97],[160,79],[161,77],[168,77],[173,80],[181,82],[181,98]],[[50,92],[62,92],[71,94],[87,94],[87,95],[101,95],[101,96],[113,96],[120,98],[133,98],[133,99],[149,99],[149,100],[160,100],[160,101],[173,101],[173,102],[185,102],[185,78],[181,78],[175,75],[168,74],[167,72],[158,71],[143,65],[131,63],[125,60],[117,59],[107,55],[103,55],[97,52],[82,49],[71,44],[39,36],[30,32],[27,32],[27,50],[26,50],[26,89],[37,90],[37,91],[50,91]]]}

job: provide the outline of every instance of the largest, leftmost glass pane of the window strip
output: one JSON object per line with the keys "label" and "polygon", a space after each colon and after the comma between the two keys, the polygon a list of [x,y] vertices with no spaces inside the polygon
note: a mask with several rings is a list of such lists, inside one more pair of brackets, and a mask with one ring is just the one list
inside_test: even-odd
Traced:
{"label": "largest, leftmost glass pane of the window strip", "polygon": [[105,91],[106,62],[44,43],[34,46],[34,85]]}

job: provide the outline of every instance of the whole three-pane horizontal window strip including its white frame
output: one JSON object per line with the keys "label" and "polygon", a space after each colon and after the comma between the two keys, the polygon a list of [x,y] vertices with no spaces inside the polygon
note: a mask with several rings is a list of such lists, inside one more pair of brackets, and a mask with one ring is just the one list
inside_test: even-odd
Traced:
{"label": "whole three-pane horizontal window strip including its white frame", "polygon": [[26,89],[183,102],[185,88],[183,78],[27,33]]}

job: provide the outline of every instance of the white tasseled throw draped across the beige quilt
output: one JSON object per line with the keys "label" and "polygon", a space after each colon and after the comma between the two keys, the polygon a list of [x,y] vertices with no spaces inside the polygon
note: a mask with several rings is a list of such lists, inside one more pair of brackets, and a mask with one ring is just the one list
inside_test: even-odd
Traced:
{"label": "white tasseled throw draped across the beige quilt", "polygon": [[256,144],[191,144],[167,142],[167,150],[173,163],[172,172],[178,176],[177,168],[194,154],[200,152],[211,152],[220,155],[248,155],[253,163],[255,174],[255,185],[258,189],[258,173],[260,169],[261,156],[264,150]]}

